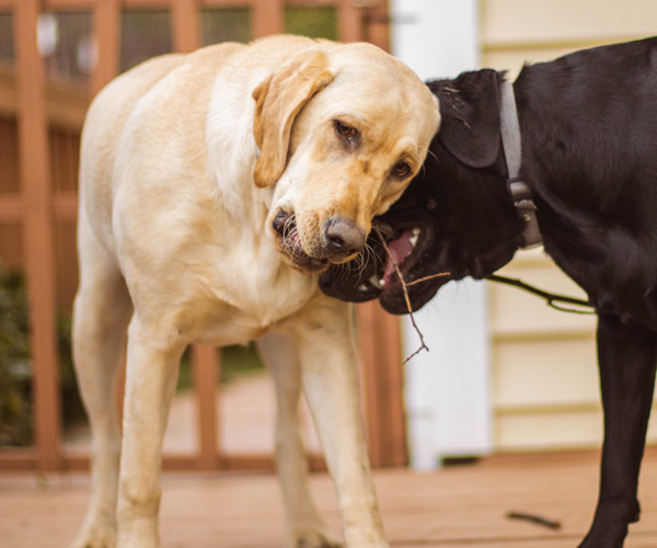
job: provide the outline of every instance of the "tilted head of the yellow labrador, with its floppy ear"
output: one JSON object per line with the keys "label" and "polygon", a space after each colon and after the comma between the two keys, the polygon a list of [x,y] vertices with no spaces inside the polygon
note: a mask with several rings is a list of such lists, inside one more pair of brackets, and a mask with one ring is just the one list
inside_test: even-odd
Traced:
{"label": "tilted head of the yellow labrador, with its floppy ear", "polygon": [[253,98],[254,182],[276,183],[267,224],[284,260],[321,272],[353,259],[420,169],[440,119],[435,95],[376,46],[322,42]]}

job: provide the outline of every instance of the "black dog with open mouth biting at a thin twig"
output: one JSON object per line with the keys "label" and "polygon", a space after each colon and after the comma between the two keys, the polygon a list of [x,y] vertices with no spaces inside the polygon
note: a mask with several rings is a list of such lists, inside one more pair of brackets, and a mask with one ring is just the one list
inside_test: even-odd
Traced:
{"label": "black dog with open mouth biting at a thin twig", "polygon": [[[377,222],[406,282],[450,273],[408,287],[418,309],[450,279],[482,278],[506,264],[525,243],[533,216],[526,198],[533,198],[545,251],[599,318],[604,444],[598,506],[580,548],[619,548],[639,515],[657,364],[657,38],[522,69],[512,88],[520,175],[531,196],[518,198],[520,215],[500,144],[505,85],[493,70],[429,83],[442,125],[424,173]],[[391,261],[376,239],[370,246],[379,261],[364,272],[334,269],[322,288],[407,312]]]}

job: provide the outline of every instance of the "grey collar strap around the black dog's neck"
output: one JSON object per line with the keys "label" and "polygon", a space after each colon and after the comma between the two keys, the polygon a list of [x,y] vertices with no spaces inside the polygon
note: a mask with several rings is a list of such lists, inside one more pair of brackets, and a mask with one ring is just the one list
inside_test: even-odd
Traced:
{"label": "grey collar strap around the black dog's neck", "polygon": [[516,110],[516,98],[514,95],[514,84],[503,82],[500,95],[499,130],[508,172],[507,189],[518,215],[525,221],[525,229],[522,230],[525,244],[522,248],[529,249],[541,244],[543,237],[539,229],[537,206],[531,197],[531,191],[520,176],[522,142],[520,138],[520,125],[518,123],[518,111]]}

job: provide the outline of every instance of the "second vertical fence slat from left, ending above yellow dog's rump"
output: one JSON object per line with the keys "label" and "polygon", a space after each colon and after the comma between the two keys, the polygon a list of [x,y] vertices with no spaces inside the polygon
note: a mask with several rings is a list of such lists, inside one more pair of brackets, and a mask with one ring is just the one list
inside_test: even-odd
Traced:
{"label": "second vertical fence slat from left, ending above yellow dog's rump", "polygon": [[93,33],[97,47],[97,64],[91,78],[91,91],[96,94],[119,71],[120,0],[96,0],[93,10]]}

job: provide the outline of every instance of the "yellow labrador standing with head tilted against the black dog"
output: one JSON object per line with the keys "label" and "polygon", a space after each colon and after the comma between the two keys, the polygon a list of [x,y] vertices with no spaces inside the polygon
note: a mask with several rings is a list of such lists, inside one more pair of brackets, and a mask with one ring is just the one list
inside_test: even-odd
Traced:
{"label": "yellow labrador standing with head tilted against the black dog", "polygon": [[[82,135],[74,357],[93,484],[74,548],[160,546],[161,446],[193,342],[260,339],[296,546],[333,546],[306,483],[301,387],[346,545],[387,546],[359,416],[349,309],[318,275],[425,158],[438,105],[367,44],[276,36],[147,61],[94,100]],[[123,442],[111,387],[127,332]]]}

